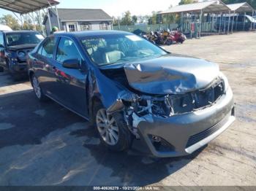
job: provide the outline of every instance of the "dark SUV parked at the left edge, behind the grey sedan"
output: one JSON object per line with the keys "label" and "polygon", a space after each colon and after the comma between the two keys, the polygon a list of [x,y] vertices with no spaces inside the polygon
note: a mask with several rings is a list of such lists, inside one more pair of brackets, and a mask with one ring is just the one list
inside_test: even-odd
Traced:
{"label": "dark SUV parked at the left edge, behind the grey sedan", "polygon": [[43,39],[37,31],[0,31],[0,63],[14,79],[27,75],[26,55]]}

